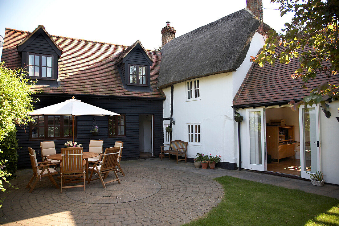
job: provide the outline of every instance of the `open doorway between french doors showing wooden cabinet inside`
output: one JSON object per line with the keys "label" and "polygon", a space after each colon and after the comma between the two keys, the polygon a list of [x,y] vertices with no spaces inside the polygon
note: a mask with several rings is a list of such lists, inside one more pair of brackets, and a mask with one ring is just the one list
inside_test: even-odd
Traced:
{"label": "open doorway between french doors showing wooden cabinet inside", "polygon": [[267,171],[300,176],[299,113],[290,107],[266,108]]}

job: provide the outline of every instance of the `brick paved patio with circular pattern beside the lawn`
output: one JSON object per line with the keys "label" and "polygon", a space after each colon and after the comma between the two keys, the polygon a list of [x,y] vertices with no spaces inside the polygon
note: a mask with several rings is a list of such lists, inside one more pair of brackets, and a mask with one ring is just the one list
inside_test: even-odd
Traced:
{"label": "brick paved patio with circular pattern beside the lawn", "polygon": [[[214,177],[235,176],[275,184],[339,199],[339,187],[312,186],[309,181],[256,173],[247,170],[194,168],[192,163],[168,159],[121,162],[125,177],[121,184],[102,188],[99,180],[60,193],[48,178],[42,178],[32,193],[25,188],[32,170],[17,171],[3,203],[0,223],[4,225],[181,225],[216,206],[223,196]],[[110,175],[112,176],[112,175]],[[59,181],[57,181],[59,182]]]}

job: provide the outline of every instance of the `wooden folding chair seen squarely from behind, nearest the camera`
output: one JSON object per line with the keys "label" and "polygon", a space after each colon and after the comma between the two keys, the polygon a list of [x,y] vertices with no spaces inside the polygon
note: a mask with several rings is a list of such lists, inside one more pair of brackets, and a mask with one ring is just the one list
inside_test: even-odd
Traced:
{"label": "wooden folding chair seen squarely from behind, nearest the camera", "polygon": [[[61,148],[60,193],[62,193],[63,188],[84,187],[85,191],[85,161],[82,157],[82,148]],[[83,182],[83,185],[64,186],[67,183],[79,182]]]}

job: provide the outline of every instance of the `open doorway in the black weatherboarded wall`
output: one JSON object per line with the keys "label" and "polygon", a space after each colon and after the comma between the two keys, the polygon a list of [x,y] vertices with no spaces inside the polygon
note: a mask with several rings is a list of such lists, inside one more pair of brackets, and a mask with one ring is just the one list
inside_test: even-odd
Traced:
{"label": "open doorway in the black weatherboarded wall", "polygon": [[153,115],[139,115],[139,158],[153,157]]}

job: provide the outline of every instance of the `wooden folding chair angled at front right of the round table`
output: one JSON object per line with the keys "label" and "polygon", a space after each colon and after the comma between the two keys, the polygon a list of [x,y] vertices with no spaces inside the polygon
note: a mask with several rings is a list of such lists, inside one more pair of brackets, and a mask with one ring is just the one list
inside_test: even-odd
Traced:
{"label": "wooden folding chair angled at front right of the round table", "polygon": [[[89,176],[88,184],[91,181],[98,180],[98,179],[100,179],[101,184],[104,188],[106,188],[105,184],[111,183],[114,181],[118,181],[118,183],[120,184],[120,180],[116,172],[116,168],[115,168],[118,164],[117,159],[119,157],[119,150],[120,150],[120,147],[106,148],[105,153],[103,154],[102,163],[92,162],[94,163],[94,165],[88,168],[89,170],[91,170],[91,175]],[[104,182],[104,180],[108,176],[108,173],[111,171],[114,172],[116,179]],[[97,173],[99,177],[92,179],[94,172]],[[103,174],[104,177],[102,177],[101,174]]]}

